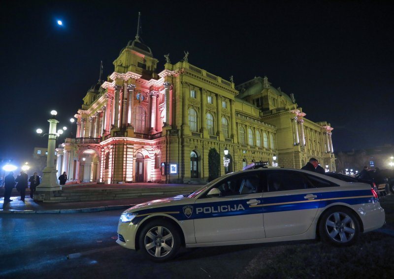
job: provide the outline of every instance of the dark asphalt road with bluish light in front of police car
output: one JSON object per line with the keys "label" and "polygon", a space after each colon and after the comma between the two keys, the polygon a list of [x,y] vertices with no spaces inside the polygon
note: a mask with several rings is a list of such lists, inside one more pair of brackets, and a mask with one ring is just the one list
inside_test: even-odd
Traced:
{"label": "dark asphalt road with bluish light in front of police car", "polygon": [[115,243],[121,212],[2,214],[0,278],[228,279],[264,248],[182,249],[174,260],[154,263]]}

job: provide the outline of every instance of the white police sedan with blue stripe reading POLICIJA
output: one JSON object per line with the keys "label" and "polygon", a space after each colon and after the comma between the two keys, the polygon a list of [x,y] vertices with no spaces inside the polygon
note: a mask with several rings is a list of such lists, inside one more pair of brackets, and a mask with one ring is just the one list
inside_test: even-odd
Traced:
{"label": "white police sedan with blue stripe reading POLICIJA", "polygon": [[187,196],[129,208],[120,216],[116,242],[164,261],[181,246],[317,237],[348,246],[384,223],[384,210],[368,184],[306,170],[257,168],[229,173]]}

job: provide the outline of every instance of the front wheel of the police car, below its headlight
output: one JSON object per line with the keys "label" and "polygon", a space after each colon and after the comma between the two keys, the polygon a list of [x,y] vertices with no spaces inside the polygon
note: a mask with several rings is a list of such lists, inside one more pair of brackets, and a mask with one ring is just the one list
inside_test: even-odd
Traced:
{"label": "front wheel of the police car, below its headlight", "polygon": [[165,220],[147,223],[139,234],[139,248],[155,262],[173,258],[180,246],[181,238],[177,228]]}

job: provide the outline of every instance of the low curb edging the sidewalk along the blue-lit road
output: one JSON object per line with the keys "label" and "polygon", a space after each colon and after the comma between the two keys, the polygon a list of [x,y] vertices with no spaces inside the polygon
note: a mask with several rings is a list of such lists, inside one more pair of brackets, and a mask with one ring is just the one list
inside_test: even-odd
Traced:
{"label": "low curb edging the sidewalk along the blue-lit road", "polygon": [[127,209],[135,204],[125,204],[125,205],[107,205],[107,206],[99,206],[99,207],[89,207],[89,208],[76,208],[76,209],[38,209],[38,210],[3,210],[0,209],[0,214],[32,214],[32,213],[90,213],[90,212],[100,212],[100,211],[109,211],[109,210],[118,210],[118,209]]}

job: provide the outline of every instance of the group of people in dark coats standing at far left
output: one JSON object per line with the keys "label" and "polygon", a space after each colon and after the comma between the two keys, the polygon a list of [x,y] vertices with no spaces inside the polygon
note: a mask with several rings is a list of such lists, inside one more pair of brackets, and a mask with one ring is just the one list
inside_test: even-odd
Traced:
{"label": "group of people in dark coats standing at far left", "polygon": [[[14,173],[9,172],[4,178],[4,203],[12,201],[11,192],[13,188],[16,188],[21,194],[19,200],[25,201],[26,189],[29,187],[30,182],[30,197],[33,198],[36,187],[40,184],[40,177],[36,172],[32,176],[28,176],[23,170],[20,175],[14,178]],[[16,186],[15,186],[16,184]]]}

